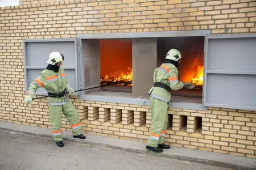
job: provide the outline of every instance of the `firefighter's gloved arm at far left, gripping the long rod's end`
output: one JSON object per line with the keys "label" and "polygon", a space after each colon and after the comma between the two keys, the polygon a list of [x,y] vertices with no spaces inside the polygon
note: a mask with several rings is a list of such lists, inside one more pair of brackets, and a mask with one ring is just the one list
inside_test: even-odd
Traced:
{"label": "firefighter's gloved arm at far left, gripping the long rod's end", "polygon": [[40,73],[39,76],[35,78],[34,81],[30,84],[30,87],[28,87],[27,96],[24,99],[26,105],[32,102],[32,99],[35,95],[35,92],[38,90],[38,88],[44,88],[45,86],[46,86],[46,78],[42,73]]}

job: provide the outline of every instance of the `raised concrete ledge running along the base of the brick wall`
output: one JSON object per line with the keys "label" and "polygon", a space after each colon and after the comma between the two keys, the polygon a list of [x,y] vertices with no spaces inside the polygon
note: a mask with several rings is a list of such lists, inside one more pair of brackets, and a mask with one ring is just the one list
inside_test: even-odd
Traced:
{"label": "raised concrete ledge running along the base of the brick wall", "polygon": [[[19,125],[11,122],[0,121],[0,129],[17,131],[21,133],[38,135],[40,137],[52,138],[51,129]],[[171,147],[170,150],[164,150],[163,153],[157,154],[146,150],[146,144],[142,142],[126,141],[101,137],[97,135],[85,134],[86,139],[75,139],[71,131],[63,131],[64,140],[72,142],[86,143],[89,145],[101,145],[118,150],[137,152],[140,154],[157,155],[171,159],[187,160],[204,164],[212,164],[218,167],[235,168],[235,169],[256,169],[256,159],[219,154],[215,152],[192,150],[189,148]]]}

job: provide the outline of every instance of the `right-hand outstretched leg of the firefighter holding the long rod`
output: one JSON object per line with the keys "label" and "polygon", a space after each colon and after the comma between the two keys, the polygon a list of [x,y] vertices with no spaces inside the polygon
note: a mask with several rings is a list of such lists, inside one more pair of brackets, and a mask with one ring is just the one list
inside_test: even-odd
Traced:
{"label": "right-hand outstretched leg of the firefighter holding the long rod", "polygon": [[[79,114],[77,113],[76,108],[72,104],[71,100],[69,100],[67,104],[63,106],[63,114],[65,118],[67,118],[69,125],[71,126],[73,136],[76,137],[81,135],[82,125],[80,122]],[[83,139],[83,137],[81,138]]]}

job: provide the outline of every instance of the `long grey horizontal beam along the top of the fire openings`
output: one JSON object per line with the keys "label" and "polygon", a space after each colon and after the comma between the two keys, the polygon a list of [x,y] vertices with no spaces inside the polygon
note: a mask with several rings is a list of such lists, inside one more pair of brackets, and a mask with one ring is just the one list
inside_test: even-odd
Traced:
{"label": "long grey horizontal beam along the top of the fire openings", "polygon": [[77,34],[79,39],[134,39],[157,37],[192,37],[207,36],[210,30],[195,31],[156,31],[156,32],[129,32],[129,33],[82,33]]}

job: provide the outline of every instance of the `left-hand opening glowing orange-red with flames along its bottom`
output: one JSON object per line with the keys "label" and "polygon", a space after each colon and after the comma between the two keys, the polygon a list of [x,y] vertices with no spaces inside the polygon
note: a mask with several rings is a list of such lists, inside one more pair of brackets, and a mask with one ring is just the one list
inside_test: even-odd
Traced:
{"label": "left-hand opening glowing orange-red with flames along its bottom", "polygon": [[132,92],[133,42],[130,39],[100,40],[100,80],[102,91]]}

